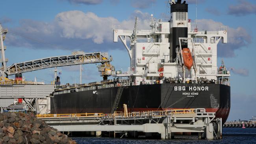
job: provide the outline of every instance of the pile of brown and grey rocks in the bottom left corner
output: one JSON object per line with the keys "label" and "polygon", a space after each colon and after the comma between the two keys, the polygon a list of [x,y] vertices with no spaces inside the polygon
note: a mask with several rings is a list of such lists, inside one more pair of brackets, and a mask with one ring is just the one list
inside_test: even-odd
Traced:
{"label": "pile of brown and grey rocks in the bottom left corner", "polygon": [[33,113],[0,114],[0,144],[76,144]]}

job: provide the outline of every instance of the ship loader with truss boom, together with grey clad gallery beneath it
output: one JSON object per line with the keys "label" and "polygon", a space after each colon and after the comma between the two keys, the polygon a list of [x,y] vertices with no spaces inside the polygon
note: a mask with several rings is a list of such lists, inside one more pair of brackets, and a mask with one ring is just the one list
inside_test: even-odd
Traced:
{"label": "ship loader with truss boom, together with grey clad gallery beneath it", "polygon": [[21,63],[15,63],[7,67],[6,63],[8,59],[5,57],[6,46],[4,46],[4,40],[6,38],[7,32],[8,30],[3,29],[2,25],[0,24],[0,63],[2,64],[0,66],[0,113],[3,112],[3,107],[8,107],[14,102],[14,99],[17,98],[23,99],[24,102],[27,103],[28,107],[32,109],[32,111],[40,113],[38,99],[50,96],[50,94],[54,92],[54,85],[45,85],[45,83],[40,82],[8,79],[7,77],[10,75],[21,74],[24,72],[31,72],[45,68],[56,68],[59,66],[82,65],[90,63],[102,64],[98,66],[98,71],[100,72],[100,76],[103,76],[104,80],[106,80],[108,76],[111,76],[115,71],[114,66],[110,64],[110,61],[113,59],[111,56],[108,57],[108,53],[84,53],[78,51],[73,52],[71,55],[35,59]]}

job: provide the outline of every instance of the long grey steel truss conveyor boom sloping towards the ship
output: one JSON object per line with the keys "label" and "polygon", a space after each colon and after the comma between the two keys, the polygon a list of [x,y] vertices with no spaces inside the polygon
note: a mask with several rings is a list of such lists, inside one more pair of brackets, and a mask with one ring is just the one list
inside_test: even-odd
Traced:
{"label": "long grey steel truss conveyor boom sloping towards the ship", "polygon": [[6,74],[13,75],[58,66],[70,66],[89,63],[109,63],[112,60],[112,57],[108,58],[108,53],[101,52],[46,57],[32,61],[25,61],[22,63],[15,63],[7,67]]}

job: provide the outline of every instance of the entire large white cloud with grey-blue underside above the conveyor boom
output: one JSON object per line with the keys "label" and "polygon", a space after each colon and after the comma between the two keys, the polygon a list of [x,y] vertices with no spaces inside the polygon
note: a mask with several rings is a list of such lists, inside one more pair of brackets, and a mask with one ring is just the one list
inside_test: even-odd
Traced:
{"label": "entire large white cloud with grey-blue underside above the conveyor boom", "polygon": [[[54,48],[58,49],[76,49],[84,50],[85,52],[101,51],[102,49],[108,51],[109,49],[117,48],[117,44],[112,43],[113,25],[120,25],[122,29],[132,30],[135,16],[139,17],[139,29],[150,28],[150,15],[138,10],[123,21],[113,17],[98,17],[95,13],[83,13],[82,11],[59,13],[54,21],[49,23],[30,19],[20,20],[20,26],[10,31],[39,41],[8,35],[6,44],[31,48],[52,48],[54,46]],[[48,44],[40,41],[45,41]]]}

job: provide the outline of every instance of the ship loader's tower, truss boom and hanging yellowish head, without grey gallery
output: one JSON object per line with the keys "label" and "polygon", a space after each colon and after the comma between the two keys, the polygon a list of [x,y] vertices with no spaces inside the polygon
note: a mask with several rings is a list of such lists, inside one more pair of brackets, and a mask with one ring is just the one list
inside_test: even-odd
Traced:
{"label": "ship loader's tower, truss boom and hanging yellowish head, without grey gallery", "polygon": [[19,74],[24,72],[30,72],[34,70],[41,70],[45,68],[59,67],[59,66],[71,66],[71,65],[81,65],[89,63],[102,63],[98,66],[98,71],[100,76],[103,76],[103,79],[106,80],[108,76],[111,76],[115,72],[114,66],[110,65],[112,57],[108,57],[108,53],[102,52],[93,52],[93,53],[84,53],[84,52],[73,52],[71,55],[55,56],[55,57],[46,57],[42,59],[35,59],[31,61],[25,61],[21,63],[15,63],[9,67],[6,66],[7,59],[5,58],[4,39],[7,29],[3,29],[0,25],[0,51],[1,51],[1,62],[2,67],[0,67],[1,77],[7,77],[13,74]]}

